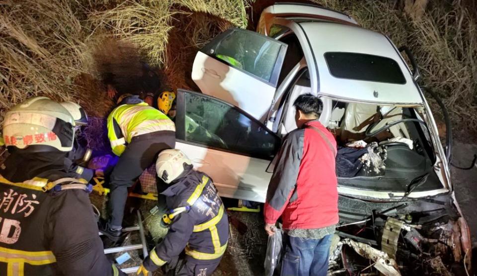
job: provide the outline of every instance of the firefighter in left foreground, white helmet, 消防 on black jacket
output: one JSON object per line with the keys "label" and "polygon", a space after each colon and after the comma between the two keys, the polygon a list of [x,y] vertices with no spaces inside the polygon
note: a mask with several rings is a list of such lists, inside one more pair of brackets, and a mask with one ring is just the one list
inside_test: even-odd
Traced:
{"label": "firefighter in left foreground, white helmet, \u6d88\u9632 on black jacket", "polygon": [[124,275],[106,259],[88,197],[64,159],[73,118],[34,97],[5,114],[0,165],[0,275]]}

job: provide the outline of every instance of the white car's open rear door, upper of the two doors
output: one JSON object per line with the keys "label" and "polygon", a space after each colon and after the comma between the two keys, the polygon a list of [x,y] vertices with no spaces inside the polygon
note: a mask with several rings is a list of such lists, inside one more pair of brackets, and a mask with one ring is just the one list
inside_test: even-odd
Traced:
{"label": "white car's open rear door, upper of the two doors", "polygon": [[263,122],[286,50],[283,42],[231,28],[197,53],[192,80],[203,93],[238,106]]}

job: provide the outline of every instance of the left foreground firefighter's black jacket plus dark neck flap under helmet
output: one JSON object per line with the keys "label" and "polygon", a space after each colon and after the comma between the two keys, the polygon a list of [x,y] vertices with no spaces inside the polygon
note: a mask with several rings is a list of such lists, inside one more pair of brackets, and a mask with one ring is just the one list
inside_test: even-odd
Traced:
{"label": "left foreground firefighter's black jacket plus dark neck flap under helmet", "polygon": [[104,255],[84,182],[64,160],[15,150],[1,164],[0,275],[125,275]]}

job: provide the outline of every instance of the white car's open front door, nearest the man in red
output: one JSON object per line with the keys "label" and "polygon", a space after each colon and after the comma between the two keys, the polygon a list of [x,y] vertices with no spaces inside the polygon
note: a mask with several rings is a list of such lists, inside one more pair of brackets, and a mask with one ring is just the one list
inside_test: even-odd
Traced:
{"label": "white car's open front door, nearest the man in red", "polygon": [[225,197],[264,202],[280,139],[243,110],[209,95],[177,92],[176,148]]}

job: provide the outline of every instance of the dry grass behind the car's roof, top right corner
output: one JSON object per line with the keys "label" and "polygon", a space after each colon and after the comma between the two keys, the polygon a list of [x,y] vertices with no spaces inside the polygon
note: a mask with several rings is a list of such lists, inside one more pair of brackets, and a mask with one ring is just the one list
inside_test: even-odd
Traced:
{"label": "dry grass behind the car's roof, top right corner", "polygon": [[[457,133],[477,135],[476,21],[461,1],[430,1],[420,19],[407,16],[400,1],[315,2],[347,12],[363,27],[388,35],[397,46],[407,45],[418,63],[419,84],[442,97]],[[438,105],[430,95],[427,98],[441,117]]]}

